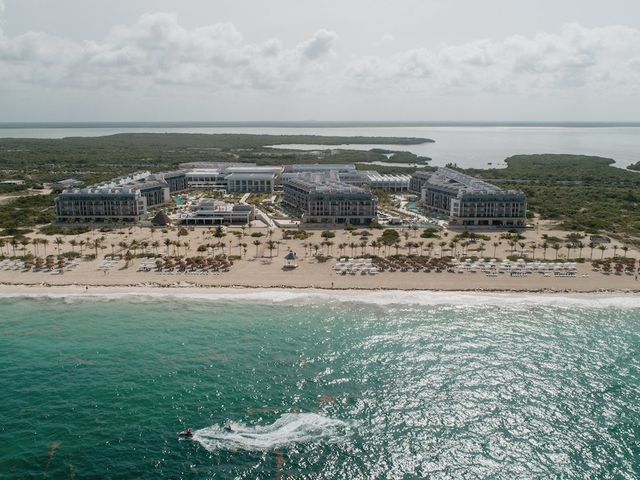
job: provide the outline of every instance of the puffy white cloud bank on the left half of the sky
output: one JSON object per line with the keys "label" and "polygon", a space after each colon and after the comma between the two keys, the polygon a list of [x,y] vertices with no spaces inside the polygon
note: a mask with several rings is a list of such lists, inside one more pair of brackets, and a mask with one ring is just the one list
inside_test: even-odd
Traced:
{"label": "puffy white cloud bank on the left half of the sky", "polygon": [[0,80],[73,88],[282,89],[322,69],[335,38],[320,30],[286,48],[278,39],[248,43],[232,23],[188,30],[173,14],[145,14],[100,42],[36,32],[0,37]]}

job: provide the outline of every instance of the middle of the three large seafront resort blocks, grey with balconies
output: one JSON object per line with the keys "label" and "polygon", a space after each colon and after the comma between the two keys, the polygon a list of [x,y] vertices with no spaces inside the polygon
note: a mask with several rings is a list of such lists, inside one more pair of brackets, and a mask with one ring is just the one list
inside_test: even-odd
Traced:
{"label": "middle of the three large seafront resort blocks, grey with balconies", "polygon": [[369,191],[330,175],[287,175],[283,188],[283,201],[300,210],[305,223],[367,225],[377,218],[376,198]]}

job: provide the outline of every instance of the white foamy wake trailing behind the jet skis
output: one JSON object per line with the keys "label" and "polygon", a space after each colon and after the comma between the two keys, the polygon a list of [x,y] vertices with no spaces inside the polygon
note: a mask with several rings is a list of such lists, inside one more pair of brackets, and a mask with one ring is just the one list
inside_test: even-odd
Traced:
{"label": "white foamy wake trailing behind the jet skis", "polygon": [[193,440],[209,452],[264,451],[301,443],[334,443],[348,433],[345,422],[316,413],[286,413],[271,425],[230,425],[231,432],[219,425],[196,430]]}

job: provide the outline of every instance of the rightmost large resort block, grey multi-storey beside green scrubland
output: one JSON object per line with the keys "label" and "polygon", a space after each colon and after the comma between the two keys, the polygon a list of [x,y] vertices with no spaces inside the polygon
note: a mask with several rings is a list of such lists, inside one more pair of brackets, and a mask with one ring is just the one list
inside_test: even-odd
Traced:
{"label": "rightmost large resort block, grey multi-storey beside green scrubland", "polygon": [[525,227],[527,198],[449,168],[438,168],[422,186],[425,208],[449,217],[450,226]]}

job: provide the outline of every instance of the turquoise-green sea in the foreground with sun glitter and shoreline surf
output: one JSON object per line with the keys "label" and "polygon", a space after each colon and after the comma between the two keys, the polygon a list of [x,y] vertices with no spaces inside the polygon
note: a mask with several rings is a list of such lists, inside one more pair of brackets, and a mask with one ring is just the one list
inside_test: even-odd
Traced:
{"label": "turquoise-green sea in the foreground with sun glitter and shoreline surf", "polygon": [[639,368],[632,297],[5,296],[0,478],[633,479]]}

